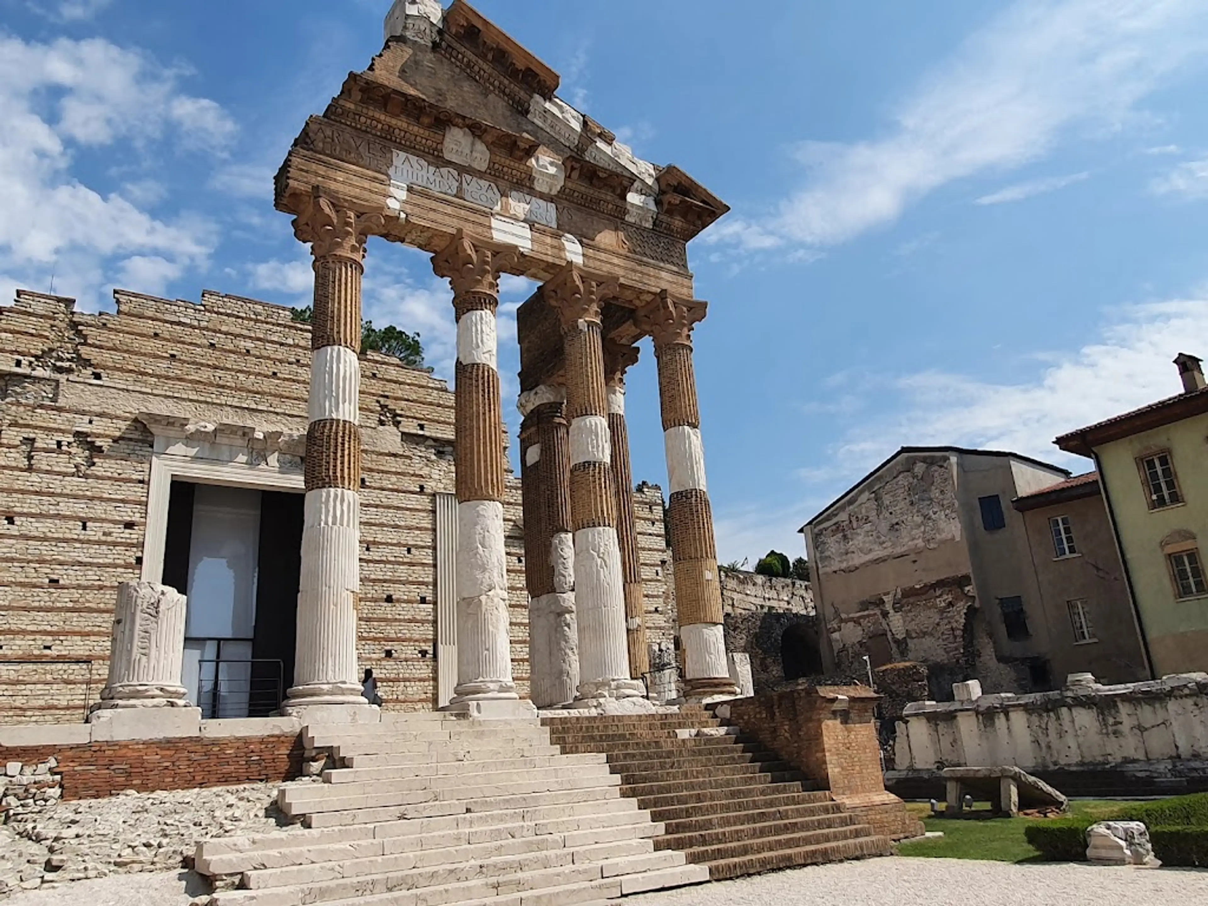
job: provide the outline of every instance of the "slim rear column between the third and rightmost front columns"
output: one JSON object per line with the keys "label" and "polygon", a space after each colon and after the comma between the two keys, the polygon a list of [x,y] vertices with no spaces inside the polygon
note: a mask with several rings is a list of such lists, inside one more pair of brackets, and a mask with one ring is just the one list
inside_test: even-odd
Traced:
{"label": "slim rear column between the third and rightmost front columns", "polygon": [[629,465],[629,429],[625,423],[625,372],[638,362],[638,347],[604,342],[604,382],[608,391],[608,426],[612,442],[612,492],[616,536],[621,546],[625,577],[625,638],[629,646],[629,675],[645,679],[650,672],[646,650],[645,600],[641,597],[641,553],[633,513],[633,469]]}

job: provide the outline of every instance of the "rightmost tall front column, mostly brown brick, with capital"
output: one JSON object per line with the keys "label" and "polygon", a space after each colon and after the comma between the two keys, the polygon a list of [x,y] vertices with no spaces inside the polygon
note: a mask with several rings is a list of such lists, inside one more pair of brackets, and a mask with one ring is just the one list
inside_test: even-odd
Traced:
{"label": "rightmost tall front column, mostly brown brick, with capital", "polygon": [[692,326],[704,313],[704,302],[680,302],[664,291],[635,315],[638,327],[654,338],[658,360],[658,399],[670,487],[667,518],[684,679],[690,698],[737,693],[726,661],[718,548],[704,481],[701,413],[692,367]]}

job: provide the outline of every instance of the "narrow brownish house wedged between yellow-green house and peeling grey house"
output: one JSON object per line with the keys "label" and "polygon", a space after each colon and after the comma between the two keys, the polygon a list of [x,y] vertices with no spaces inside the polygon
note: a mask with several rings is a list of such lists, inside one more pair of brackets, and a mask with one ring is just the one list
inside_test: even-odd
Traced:
{"label": "narrow brownish house wedged between yellow-green house and peeling grey house", "polygon": [[1023,494],[1012,505],[1023,515],[1053,676],[1090,672],[1100,683],[1149,679],[1098,472]]}

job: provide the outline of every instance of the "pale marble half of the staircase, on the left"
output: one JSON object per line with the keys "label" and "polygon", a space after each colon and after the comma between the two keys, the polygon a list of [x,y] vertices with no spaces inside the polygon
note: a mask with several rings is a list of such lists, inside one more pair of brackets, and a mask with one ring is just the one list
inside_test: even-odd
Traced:
{"label": "pale marble half of the staircase, on the left", "polygon": [[308,727],[321,783],[281,788],[304,830],[201,843],[215,906],[569,906],[698,883],[603,754],[564,755],[536,719],[387,715]]}

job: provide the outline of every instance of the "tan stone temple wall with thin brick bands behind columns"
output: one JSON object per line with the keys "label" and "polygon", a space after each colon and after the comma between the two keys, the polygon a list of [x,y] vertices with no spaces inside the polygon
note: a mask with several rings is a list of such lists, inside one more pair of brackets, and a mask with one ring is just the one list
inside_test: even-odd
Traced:
{"label": "tan stone temple wall with thin brick bands behind columns", "polygon": [[[0,722],[80,721],[99,696],[117,585],[141,571],[153,437],[139,412],[298,439],[307,430],[310,331],[288,308],[124,291],[117,307],[85,314],[70,300],[21,294],[0,308],[0,662],[35,661],[0,663]],[[361,355],[356,647],[390,709],[435,707],[432,495],[454,492],[453,419],[445,382]],[[519,481],[509,477],[503,496],[513,674],[524,695]]]}

